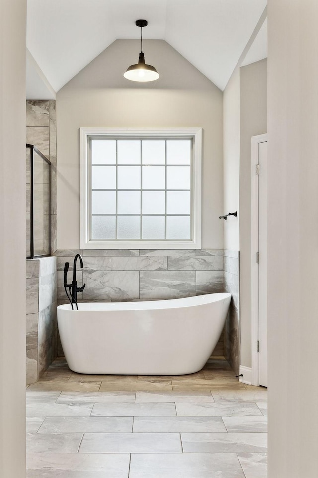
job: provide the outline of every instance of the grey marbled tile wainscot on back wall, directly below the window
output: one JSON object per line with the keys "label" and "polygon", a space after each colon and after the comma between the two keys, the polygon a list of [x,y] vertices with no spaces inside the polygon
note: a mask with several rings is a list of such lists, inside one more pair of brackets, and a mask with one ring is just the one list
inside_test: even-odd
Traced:
{"label": "grey marbled tile wainscot on back wall, directly below the window", "polygon": [[[79,286],[86,284],[80,301],[176,299],[224,291],[223,250],[58,250],[58,303],[67,303],[63,287],[64,263],[70,263],[72,282],[75,254],[83,257]],[[59,346],[58,355],[62,351]],[[223,355],[221,337],[214,355]]]}

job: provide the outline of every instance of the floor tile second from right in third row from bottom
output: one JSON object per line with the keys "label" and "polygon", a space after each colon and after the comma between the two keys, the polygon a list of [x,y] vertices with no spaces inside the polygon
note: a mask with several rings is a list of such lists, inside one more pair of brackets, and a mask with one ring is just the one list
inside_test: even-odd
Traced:
{"label": "floor tile second from right in third row from bottom", "polygon": [[135,417],[133,432],[226,432],[221,417]]}

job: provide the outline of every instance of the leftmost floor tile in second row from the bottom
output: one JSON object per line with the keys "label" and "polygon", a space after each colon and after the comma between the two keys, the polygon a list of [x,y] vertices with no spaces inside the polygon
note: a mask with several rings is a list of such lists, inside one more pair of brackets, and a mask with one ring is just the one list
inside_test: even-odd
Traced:
{"label": "leftmost floor tile in second row from the bottom", "polygon": [[82,433],[27,433],[26,453],[77,453]]}

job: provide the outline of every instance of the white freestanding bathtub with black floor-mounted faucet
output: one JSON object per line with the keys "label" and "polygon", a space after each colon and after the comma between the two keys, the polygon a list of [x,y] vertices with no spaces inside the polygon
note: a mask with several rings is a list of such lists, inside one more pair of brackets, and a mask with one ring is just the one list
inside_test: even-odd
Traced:
{"label": "white freestanding bathtub with black floor-mounted faucet", "polygon": [[88,374],[185,375],[206,363],[224,327],[231,294],[58,306],[71,370]]}

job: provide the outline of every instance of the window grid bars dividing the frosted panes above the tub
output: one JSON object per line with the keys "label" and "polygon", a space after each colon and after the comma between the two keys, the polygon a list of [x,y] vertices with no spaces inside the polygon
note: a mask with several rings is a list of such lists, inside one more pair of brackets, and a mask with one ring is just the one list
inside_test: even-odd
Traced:
{"label": "window grid bars dividing the frosted panes above the tub", "polygon": [[[92,163],[92,154],[91,154],[91,141],[96,141],[96,140],[109,140],[109,141],[115,141],[116,143],[116,154],[115,154],[115,163],[107,163],[107,164],[100,164],[100,163]],[[118,163],[118,141],[139,141],[140,142],[140,163],[138,164],[131,164],[131,163]],[[143,163],[143,148],[142,148],[142,142],[143,141],[149,141],[149,140],[154,140],[154,141],[164,141],[165,143],[165,148],[164,148],[164,164],[145,164]],[[184,164],[168,164],[167,163],[167,141],[184,141],[188,140],[190,142],[190,164],[189,163],[184,163]],[[134,189],[128,189],[128,188],[118,188],[118,167],[136,167],[140,168],[140,184],[142,186],[143,184],[143,167],[164,167],[164,182],[165,182],[165,188],[164,189],[148,189],[148,188],[134,188]],[[114,189],[96,189],[92,188],[92,169],[94,167],[115,167],[116,172],[115,172],[115,178],[116,178],[116,187]],[[167,188],[167,168],[179,168],[179,167],[188,167],[190,169],[190,188],[189,189],[172,189],[172,188]],[[107,137],[105,138],[104,136],[95,136],[95,137],[90,137],[89,138],[89,168],[90,168],[90,200],[89,200],[89,216],[90,216],[90,240],[94,240],[94,238],[91,237],[92,233],[92,217],[93,216],[110,216],[110,217],[115,217],[115,238],[114,239],[98,239],[98,240],[103,240],[105,242],[111,241],[111,240],[118,240],[118,241],[125,241],[127,239],[118,239],[118,217],[119,216],[133,216],[133,217],[140,217],[140,238],[138,239],[128,239],[129,241],[140,241],[144,240],[143,239],[143,221],[142,218],[143,216],[158,216],[162,217],[164,216],[164,239],[145,239],[147,241],[158,241],[158,240],[169,240],[169,241],[179,241],[180,239],[167,239],[167,217],[189,217],[190,218],[190,237],[189,239],[182,239],[182,240],[192,240],[192,230],[193,230],[193,213],[192,213],[192,204],[193,204],[193,137],[189,136],[182,136],[182,137],[143,137],[143,138],[132,138],[132,137]],[[115,213],[92,213],[92,192],[93,191],[114,191],[116,195],[116,200],[115,200],[115,206],[116,206],[116,211]],[[140,192],[140,214],[136,213],[118,213],[118,192],[119,191],[137,191]],[[143,192],[147,191],[158,191],[158,192],[164,192],[165,197],[164,197],[164,213],[143,213]],[[190,214],[171,214],[167,213],[167,193],[168,192],[189,192],[190,193]]]}

